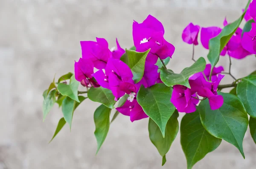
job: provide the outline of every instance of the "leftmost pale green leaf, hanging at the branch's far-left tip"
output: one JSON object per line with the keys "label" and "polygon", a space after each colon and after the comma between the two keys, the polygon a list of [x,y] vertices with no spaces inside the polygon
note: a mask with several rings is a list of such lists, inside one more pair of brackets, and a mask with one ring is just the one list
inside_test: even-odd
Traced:
{"label": "leftmost pale green leaf, hanging at the branch's far-left tip", "polygon": [[55,93],[56,90],[52,90],[49,92],[49,94],[47,95],[47,91],[44,91],[44,101],[43,101],[43,121],[46,118],[47,114],[50,112],[50,110],[52,109],[54,103],[55,103]]}

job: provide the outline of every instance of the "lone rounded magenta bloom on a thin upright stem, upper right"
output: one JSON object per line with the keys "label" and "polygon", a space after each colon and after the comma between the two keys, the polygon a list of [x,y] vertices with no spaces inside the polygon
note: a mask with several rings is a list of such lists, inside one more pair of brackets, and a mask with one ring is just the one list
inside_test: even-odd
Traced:
{"label": "lone rounded magenta bloom on a thin upright stem, upper right", "polygon": [[182,39],[188,44],[198,45],[198,33],[200,26],[189,23],[186,28],[183,30]]}

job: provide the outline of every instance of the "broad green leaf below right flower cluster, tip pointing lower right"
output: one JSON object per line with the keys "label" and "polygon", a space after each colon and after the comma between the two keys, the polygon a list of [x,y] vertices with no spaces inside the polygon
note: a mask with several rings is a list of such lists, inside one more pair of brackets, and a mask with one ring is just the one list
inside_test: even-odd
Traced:
{"label": "broad green leaf below right flower cluster, tip pointing lower right", "polygon": [[211,135],[233,144],[244,157],[242,143],[248,126],[247,113],[237,96],[221,92],[218,94],[224,99],[218,110],[211,110],[208,100],[199,104],[201,122]]}

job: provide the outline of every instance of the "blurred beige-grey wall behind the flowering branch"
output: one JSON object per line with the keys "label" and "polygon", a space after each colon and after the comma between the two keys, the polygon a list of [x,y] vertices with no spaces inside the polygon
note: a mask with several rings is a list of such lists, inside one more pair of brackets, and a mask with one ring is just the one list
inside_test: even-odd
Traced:
{"label": "blurred beige-grey wall behind the flowering branch", "polygon": [[[97,156],[93,112],[98,103],[86,100],[75,111],[72,131],[66,125],[51,139],[61,110],[55,105],[43,123],[42,93],[56,77],[73,72],[81,56],[80,41],[104,37],[109,47],[117,37],[122,48],[133,45],[133,20],[148,14],[165,28],[175,45],[168,67],[179,73],[193,62],[192,46],[181,39],[190,22],[220,26],[236,20],[247,0],[0,0],[0,169],[186,169],[180,134],[161,156],[148,138],[148,119],[131,123],[119,115]],[[200,41],[199,41],[200,42]],[[195,58],[208,51],[198,45]],[[256,69],[254,56],[233,59],[237,78]],[[228,57],[218,65],[228,70]],[[227,75],[223,84],[231,82]],[[230,89],[227,89],[228,91]],[[183,114],[180,113],[179,120]],[[221,145],[194,169],[255,169],[256,145],[247,131],[245,160],[235,146]]]}

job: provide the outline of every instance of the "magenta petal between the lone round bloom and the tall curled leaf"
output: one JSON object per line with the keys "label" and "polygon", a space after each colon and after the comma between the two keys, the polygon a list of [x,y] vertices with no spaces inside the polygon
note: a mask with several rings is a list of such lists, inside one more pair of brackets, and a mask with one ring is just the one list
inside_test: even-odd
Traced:
{"label": "magenta petal between the lone round bloom and the tall curled leaf", "polygon": [[219,27],[201,28],[201,43],[204,48],[209,49],[209,40],[216,37],[219,33],[221,33],[221,28]]}

